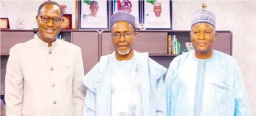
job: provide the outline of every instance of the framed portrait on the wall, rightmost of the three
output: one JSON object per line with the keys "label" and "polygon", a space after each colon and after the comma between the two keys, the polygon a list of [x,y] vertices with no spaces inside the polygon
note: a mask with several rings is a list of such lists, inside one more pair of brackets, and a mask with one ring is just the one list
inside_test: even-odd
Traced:
{"label": "framed portrait on the wall, rightmost of the three", "polygon": [[172,30],[172,1],[143,1],[143,24],[147,30]]}

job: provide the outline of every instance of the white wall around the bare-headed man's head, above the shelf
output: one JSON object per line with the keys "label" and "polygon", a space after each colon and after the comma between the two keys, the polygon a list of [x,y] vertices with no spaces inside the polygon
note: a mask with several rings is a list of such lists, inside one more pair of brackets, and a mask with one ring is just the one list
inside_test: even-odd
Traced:
{"label": "white wall around the bare-headed man's head, above the shelf", "polygon": [[[9,18],[10,28],[16,29],[16,20],[23,19],[25,29],[37,28],[35,16],[40,4],[47,0],[1,0],[1,18]],[[67,5],[66,13],[72,14],[72,28],[75,28],[76,2],[75,0],[52,0],[60,5]]]}

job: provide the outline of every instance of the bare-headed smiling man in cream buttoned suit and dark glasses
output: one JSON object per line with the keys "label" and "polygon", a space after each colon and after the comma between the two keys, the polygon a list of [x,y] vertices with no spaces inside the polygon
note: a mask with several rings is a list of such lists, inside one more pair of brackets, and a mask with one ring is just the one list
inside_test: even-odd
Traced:
{"label": "bare-headed smiling man in cream buttoned suit and dark glasses", "polygon": [[62,17],[56,2],[41,4],[36,16],[39,32],[10,49],[5,76],[7,116],[83,115],[82,53],[76,45],[57,39]]}

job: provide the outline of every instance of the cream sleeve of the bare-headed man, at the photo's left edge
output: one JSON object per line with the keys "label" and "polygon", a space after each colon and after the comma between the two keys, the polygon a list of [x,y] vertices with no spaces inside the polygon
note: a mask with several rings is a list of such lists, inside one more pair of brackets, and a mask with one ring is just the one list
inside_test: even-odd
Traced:
{"label": "cream sleeve of the bare-headed man, at the photo's left edge", "polygon": [[18,50],[20,44],[10,49],[10,56],[6,66],[5,75],[5,102],[6,115],[21,115],[23,105],[24,78],[21,69]]}

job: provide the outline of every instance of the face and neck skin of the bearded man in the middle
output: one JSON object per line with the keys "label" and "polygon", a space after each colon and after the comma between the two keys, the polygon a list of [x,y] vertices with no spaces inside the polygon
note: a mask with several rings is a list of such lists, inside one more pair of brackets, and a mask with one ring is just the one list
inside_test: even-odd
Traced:
{"label": "face and neck skin of the bearded man in the middle", "polygon": [[[135,32],[134,27],[129,24],[126,21],[119,21],[116,22],[112,27],[111,27],[111,33],[120,33],[120,34],[125,34],[125,33],[133,33],[131,36],[123,36],[121,35],[120,38],[114,38],[112,37],[112,42],[115,47],[115,57],[117,60],[129,60],[133,58],[133,43],[134,43],[134,38],[137,36],[137,32]],[[120,55],[117,50],[125,52],[127,50],[131,49],[130,52],[127,55]]]}

